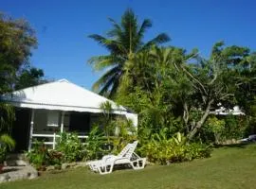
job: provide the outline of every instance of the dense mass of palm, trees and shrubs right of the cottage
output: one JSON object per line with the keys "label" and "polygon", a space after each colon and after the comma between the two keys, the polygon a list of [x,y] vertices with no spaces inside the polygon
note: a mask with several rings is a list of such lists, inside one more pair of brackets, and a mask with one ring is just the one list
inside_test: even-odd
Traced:
{"label": "dense mass of palm, trees and shrubs right of the cottage", "polygon": [[[107,70],[94,86],[138,113],[141,154],[156,163],[192,160],[193,148],[203,151],[195,157],[206,157],[208,145],[233,143],[255,131],[256,54],[249,48],[218,42],[204,58],[197,49],[145,47],[133,10],[127,9],[120,23],[111,22],[109,38],[90,36],[109,51],[89,60],[95,70]],[[236,105],[245,116],[214,114]],[[184,140],[177,144],[174,137],[180,133]]]}

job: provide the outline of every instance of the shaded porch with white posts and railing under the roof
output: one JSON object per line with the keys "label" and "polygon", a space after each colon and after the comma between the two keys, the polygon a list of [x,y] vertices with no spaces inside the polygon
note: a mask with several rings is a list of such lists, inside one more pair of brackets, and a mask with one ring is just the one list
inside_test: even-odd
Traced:
{"label": "shaded porch with white posts and railing under the roof", "polygon": [[17,142],[16,150],[20,151],[30,150],[35,141],[55,149],[62,132],[76,132],[85,143],[90,129],[99,122],[102,113],[16,108],[16,117],[12,136]]}

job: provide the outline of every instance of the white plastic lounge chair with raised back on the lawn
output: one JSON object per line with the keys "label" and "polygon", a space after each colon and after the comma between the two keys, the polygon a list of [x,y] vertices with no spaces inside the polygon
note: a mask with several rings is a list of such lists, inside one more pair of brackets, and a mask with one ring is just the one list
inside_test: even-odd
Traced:
{"label": "white plastic lounge chair with raised back on the lawn", "polygon": [[135,153],[136,146],[137,141],[125,146],[118,156],[104,156],[101,161],[91,162],[88,165],[93,171],[97,171],[101,175],[111,173],[116,164],[128,164],[135,170],[142,169],[145,166],[146,158],[140,158]]}

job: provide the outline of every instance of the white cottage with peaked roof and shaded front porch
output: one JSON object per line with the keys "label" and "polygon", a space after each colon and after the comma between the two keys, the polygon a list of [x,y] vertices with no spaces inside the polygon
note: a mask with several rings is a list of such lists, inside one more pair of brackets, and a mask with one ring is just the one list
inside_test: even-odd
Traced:
{"label": "white cottage with peaked roof and shaded front porch", "polygon": [[58,133],[63,131],[76,131],[79,138],[86,138],[102,116],[100,105],[106,101],[111,103],[113,114],[131,119],[137,127],[136,113],[66,79],[4,94],[1,100],[15,107],[12,136],[17,150],[29,150],[35,138],[54,148]]}

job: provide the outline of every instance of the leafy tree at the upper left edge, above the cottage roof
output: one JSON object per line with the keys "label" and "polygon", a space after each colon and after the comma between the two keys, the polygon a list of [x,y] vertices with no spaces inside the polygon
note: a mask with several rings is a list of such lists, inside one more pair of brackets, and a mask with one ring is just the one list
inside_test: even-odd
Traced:
{"label": "leafy tree at the upper left edge, above the cottage roof", "polygon": [[34,31],[27,21],[0,14],[0,94],[12,89],[16,73],[28,63],[36,45]]}

